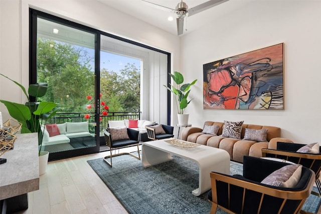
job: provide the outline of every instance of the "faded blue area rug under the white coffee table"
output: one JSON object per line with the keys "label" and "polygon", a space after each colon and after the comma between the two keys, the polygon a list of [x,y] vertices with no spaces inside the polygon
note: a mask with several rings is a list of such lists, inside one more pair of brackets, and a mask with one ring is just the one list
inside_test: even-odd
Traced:
{"label": "faded blue area rug under the white coffee table", "polygon": [[[87,162],[129,213],[210,212],[207,194],[197,197],[191,193],[199,178],[198,166],[191,160],[174,156],[172,161],[148,168],[129,155],[113,157],[112,168],[102,158]],[[242,171],[241,163],[231,161],[230,174]],[[303,209],[315,213],[319,203],[319,197],[310,195]],[[216,213],[227,212],[218,208]]]}

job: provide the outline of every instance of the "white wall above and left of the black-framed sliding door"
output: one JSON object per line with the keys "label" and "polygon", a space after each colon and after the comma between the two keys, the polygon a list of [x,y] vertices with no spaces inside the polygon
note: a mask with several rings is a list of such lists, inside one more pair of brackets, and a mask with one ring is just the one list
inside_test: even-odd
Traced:
{"label": "white wall above and left of the black-framed sliding door", "polygon": [[[180,69],[179,37],[110,9],[100,2],[0,0],[0,73],[18,81],[27,89],[29,85],[29,7],[167,51],[172,54],[172,69]],[[0,77],[0,99],[18,103],[26,101],[20,88],[3,77]],[[163,104],[163,109],[166,109],[166,103],[163,102]],[[0,111],[3,112],[5,120],[10,118],[2,103]],[[159,115],[157,117],[156,119],[159,119]],[[164,120],[164,118],[161,119]]]}

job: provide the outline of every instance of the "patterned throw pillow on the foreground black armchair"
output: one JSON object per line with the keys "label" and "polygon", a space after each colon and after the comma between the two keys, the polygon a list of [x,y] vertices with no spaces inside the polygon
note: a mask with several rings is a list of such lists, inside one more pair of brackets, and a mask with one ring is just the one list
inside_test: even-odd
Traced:
{"label": "patterned throw pillow on the foreground black armchair", "polygon": [[302,165],[290,164],[272,172],[261,183],[272,186],[293,188],[301,178]]}

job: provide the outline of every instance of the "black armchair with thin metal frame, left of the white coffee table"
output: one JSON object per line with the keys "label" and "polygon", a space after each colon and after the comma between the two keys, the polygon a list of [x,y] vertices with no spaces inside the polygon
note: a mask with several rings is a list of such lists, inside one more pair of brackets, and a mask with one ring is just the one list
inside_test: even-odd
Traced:
{"label": "black armchair with thin metal frame, left of the white coffee table", "polygon": [[[110,148],[110,155],[105,156],[103,159],[104,159],[104,161],[106,161],[106,163],[108,163],[108,165],[110,167],[112,167],[112,157],[123,155],[123,154],[129,154],[129,155],[137,158],[138,160],[140,160],[140,153],[139,153],[139,146],[138,146],[139,132],[134,129],[130,129],[130,128],[124,128],[124,129],[127,130],[128,137],[125,137],[126,139],[117,139],[117,140],[113,140],[113,136],[110,133],[111,129],[109,130],[110,132],[108,131],[108,129],[103,130],[104,135],[105,135],[105,139],[106,139],[106,145]],[[119,129],[119,131],[124,131],[124,129]],[[112,131],[114,132],[115,135],[117,135],[117,133],[116,133],[117,129],[112,129]],[[116,139],[116,137],[114,137],[114,139]],[[112,154],[112,150],[125,148],[125,147],[129,147],[129,146],[137,146],[138,156],[136,156],[130,152],[122,152],[122,153]],[[108,162],[108,160],[107,160],[108,158],[110,158],[110,162]]]}

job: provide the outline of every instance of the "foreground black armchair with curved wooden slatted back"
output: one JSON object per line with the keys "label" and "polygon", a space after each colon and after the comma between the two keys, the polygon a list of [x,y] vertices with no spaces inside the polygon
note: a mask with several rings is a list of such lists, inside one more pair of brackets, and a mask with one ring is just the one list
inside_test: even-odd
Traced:
{"label": "foreground black armchair with curved wooden slatted back", "polygon": [[298,183],[292,188],[261,183],[285,165],[291,164],[244,156],[243,175],[211,172],[210,213],[216,213],[217,207],[229,213],[299,213],[313,186],[315,175],[312,170],[302,167]]}

